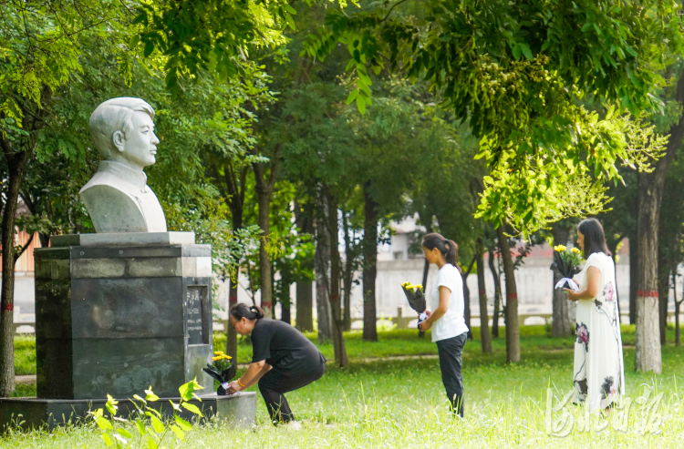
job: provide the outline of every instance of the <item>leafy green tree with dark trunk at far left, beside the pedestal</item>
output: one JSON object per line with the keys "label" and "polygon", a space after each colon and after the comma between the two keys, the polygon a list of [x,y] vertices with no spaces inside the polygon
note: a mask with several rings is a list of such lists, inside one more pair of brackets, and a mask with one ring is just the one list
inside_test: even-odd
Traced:
{"label": "leafy green tree with dark trunk at far left, beside the pedestal", "polygon": [[[0,315],[0,396],[14,391],[14,269],[15,220],[22,181],[37,148],[57,90],[83,72],[86,37],[107,39],[116,57],[128,48],[132,35],[127,5],[77,0],[41,4],[8,1],[2,5],[0,56],[0,147],[5,159],[2,179],[2,269]],[[87,11],[87,13],[85,12]],[[46,148],[47,151],[54,148]],[[61,149],[61,148],[58,148]]]}

